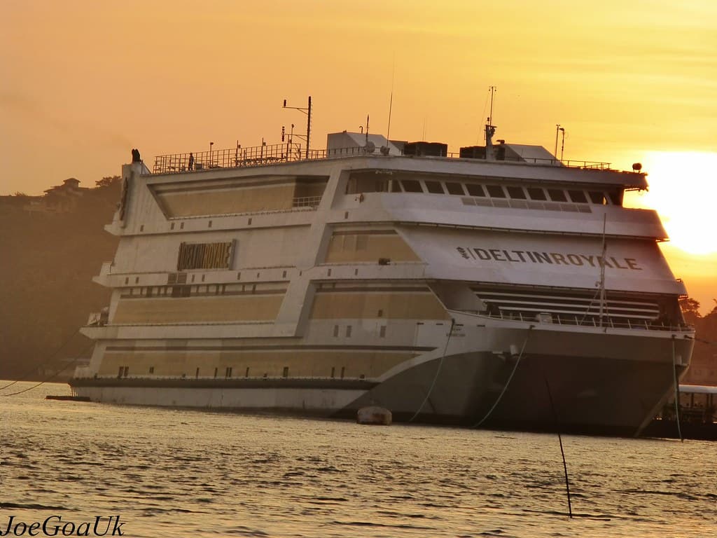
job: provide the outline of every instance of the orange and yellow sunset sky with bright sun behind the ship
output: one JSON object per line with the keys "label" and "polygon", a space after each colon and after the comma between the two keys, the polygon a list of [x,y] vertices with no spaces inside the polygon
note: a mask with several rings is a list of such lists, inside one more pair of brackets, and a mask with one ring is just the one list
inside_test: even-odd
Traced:
{"label": "orange and yellow sunset sky with bright sun behind the ship", "polygon": [[279,141],[305,127],[483,143],[565,159],[640,161],[663,251],[703,313],[717,298],[714,0],[2,0],[0,194],[92,187],[139,148],[159,154]]}

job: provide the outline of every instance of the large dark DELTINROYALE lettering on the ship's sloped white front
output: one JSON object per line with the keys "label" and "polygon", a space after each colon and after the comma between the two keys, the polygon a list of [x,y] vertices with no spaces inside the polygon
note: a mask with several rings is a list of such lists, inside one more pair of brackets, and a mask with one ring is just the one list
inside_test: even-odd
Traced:
{"label": "large dark DELTINROYALE lettering on the ship's sloped white front", "polygon": [[456,247],[456,250],[465,260],[473,258],[473,260],[496,262],[549,263],[551,265],[573,265],[575,267],[589,265],[594,268],[642,270],[635,258],[615,258],[614,256],[603,258],[602,256],[576,253],[546,253],[538,252],[537,250],[505,250],[500,248]]}

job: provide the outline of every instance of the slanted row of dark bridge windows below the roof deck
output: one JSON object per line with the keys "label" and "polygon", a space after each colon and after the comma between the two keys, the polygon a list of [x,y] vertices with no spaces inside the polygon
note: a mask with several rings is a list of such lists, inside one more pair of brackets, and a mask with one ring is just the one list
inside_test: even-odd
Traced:
{"label": "slanted row of dark bridge windows below the roof deck", "polygon": [[618,192],[600,190],[557,189],[553,187],[521,187],[458,181],[428,179],[394,179],[391,192],[424,192],[428,194],[455,194],[457,196],[511,198],[537,200],[540,202],[574,202],[576,204],[620,205]]}

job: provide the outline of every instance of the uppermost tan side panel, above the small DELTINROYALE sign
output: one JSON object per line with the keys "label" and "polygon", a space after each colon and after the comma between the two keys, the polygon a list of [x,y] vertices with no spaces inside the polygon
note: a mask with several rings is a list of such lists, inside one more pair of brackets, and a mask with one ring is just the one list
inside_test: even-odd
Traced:
{"label": "uppermost tan side panel, above the small DELTINROYALE sign", "polygon": [[277,211],[293,207],[294,184],[222,191],[163,192],[158,197],[168,217]]}

